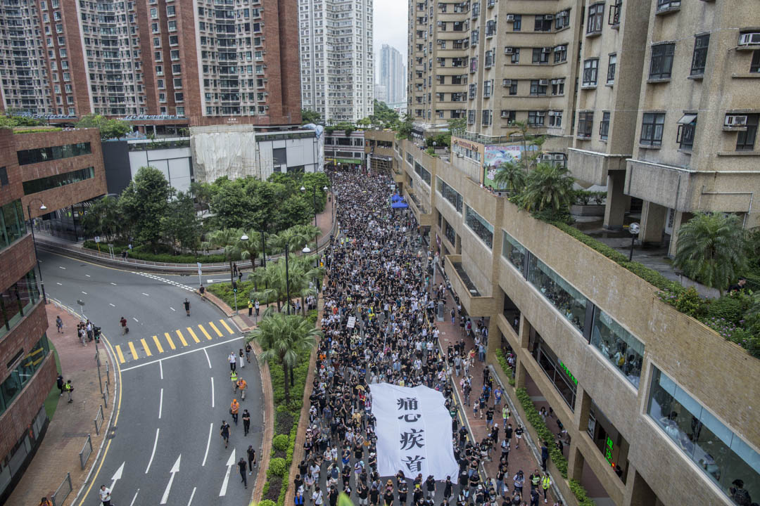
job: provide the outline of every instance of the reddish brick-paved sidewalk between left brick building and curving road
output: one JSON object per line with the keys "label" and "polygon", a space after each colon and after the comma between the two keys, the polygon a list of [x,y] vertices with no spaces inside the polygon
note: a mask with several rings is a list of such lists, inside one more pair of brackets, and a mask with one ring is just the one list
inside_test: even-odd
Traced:
{"label": "reddish brick-paved sidewalk between left brick building and curving road", "polygon": [[[45,438],[21,481],[8,498],[8,504],[40,504],[40,498],[51,498],[66,478],[66,473],[71,473],[73,490],[66,501],[61,501],[61,496],[59,496],[56,506],[71,504],[96,460],[114,405],[112,403],[113,382],[111,382],[109,407],[107,410],[103,407],[103,425],[100,427],[100,435],[96,435],[93,420],[98,407],[103,404],[103,398],[100,396],[98,383],[95,345],[88,343],[84,347],[78,341],[78,319],[74,316],[52,303],[46,306],[46,310],[49,325],[48,339],[58,351],[64,381],[71,379],[71,384],[74,385],[72,396],[74,402],[69,404],[66,394],[59,398],[58,407],[50,421]],[[62,334],[56,332],[55,328],[55,317],[59,315],[63,320]],[[109,360],[104,345],[100,344],[98,348],[101,363],[100,375],[105,385],[106,362]],[[82,470],[79,452],[87,442],[87,434],[91,435],[93,451],[84,464],[85,469]],[[65,489],[68,487],[64,487],[62,495],[65,495]]]}

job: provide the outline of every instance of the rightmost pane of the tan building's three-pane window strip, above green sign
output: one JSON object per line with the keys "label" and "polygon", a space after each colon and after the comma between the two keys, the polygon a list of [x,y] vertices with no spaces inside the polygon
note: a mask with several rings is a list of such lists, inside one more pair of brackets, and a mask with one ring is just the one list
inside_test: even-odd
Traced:
{"label": "rightmost pane of the tan building's three-pane window strip, above green sign", "polygon": [[591,345],[638,388],[644,344],[598,307],[594,308]]}

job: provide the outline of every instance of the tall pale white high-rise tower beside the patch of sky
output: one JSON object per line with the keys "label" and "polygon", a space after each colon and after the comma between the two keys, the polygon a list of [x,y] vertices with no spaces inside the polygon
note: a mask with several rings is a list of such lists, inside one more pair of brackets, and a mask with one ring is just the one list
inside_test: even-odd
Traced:
{"label": "tall pale white high-rise tower beside the patch of sky", "polygon": [[301,101],[325,124],[374,112],[372,0],[298,0]]}

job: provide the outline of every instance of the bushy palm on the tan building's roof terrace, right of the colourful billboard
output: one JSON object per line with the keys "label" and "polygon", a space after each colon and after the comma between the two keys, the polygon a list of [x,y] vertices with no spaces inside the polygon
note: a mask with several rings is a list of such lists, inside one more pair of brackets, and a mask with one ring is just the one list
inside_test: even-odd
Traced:
{"label": "bushy palm on the tan building's roof terrace, right of the colourful billboard", "polygon": [[521,204],[528,211],[548,208],[558,215],[572,203],[572,184],[568,169],[559,164],[539,163],[530,171],[521,194]]}

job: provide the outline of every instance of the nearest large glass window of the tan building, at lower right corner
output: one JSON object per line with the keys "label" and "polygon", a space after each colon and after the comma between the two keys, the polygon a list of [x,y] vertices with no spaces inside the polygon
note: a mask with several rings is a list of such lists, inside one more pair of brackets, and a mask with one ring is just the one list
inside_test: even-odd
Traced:
{"label": "nearest large glass window of the tan building, at lower right corner", "polygon": [[730,498],[737,480],[760,497],[760,454],[702,405],[653,367],[649,416]]}

